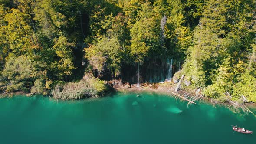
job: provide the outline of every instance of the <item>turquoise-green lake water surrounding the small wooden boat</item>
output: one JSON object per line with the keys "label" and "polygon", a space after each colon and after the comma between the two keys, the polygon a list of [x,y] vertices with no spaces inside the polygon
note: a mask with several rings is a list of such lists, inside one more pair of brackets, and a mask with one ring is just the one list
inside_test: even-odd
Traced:
{"label": "turquoise-green lake water surrounding the small wooden boat", "polygon": [[[140,93],[81,101],[0,99],[0,144],[238,144],[256,142],[256,118],[223,107],[187,107]],[[230,125],[255,131],[246,135]]]}

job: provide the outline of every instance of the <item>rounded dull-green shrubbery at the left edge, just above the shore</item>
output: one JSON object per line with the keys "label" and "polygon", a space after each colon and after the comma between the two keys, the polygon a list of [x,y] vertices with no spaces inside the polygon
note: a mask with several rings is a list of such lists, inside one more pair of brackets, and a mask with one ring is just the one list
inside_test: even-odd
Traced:
{"label": "rounded dull-green shrubbery at the left edge, just above the shore", "polygon": [[5,68],[1,72],[1,90],[5,92],[25,91],[29,92],[34,85],[43,87],[42,81],[46,77],[46,72],[42,69],[45,64],[34,62],[26,56],[10,57]]}

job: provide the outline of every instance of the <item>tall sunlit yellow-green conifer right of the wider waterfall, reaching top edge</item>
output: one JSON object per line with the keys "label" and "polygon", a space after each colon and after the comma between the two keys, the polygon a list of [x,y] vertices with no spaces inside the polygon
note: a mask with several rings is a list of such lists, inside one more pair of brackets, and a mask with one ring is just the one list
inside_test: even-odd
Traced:
{"label": "tall sunlit yellow-green conifer right of the wider waterfall, reaching top edge", "polygon": [[209,0],[203,10],[200,25],[194,33],[195,45],[188,50],[190,57],[185,65],[185,69],[189,69],[187,75],[191,75],[198,87],[211,84],[210,74],[218,69],[218,63],[223,62],[221,52],[226,35],[227,1]]}

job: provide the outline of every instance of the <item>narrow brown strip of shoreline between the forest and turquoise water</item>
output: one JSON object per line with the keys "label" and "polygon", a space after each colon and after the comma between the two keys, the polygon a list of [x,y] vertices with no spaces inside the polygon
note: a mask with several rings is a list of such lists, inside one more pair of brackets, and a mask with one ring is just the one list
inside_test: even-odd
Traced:
{"label": "narrow brown strip of shoreline between the forest and turquoise water", "polygon": [[[195,100],[196,105],[200,104],[200,103],[206,103],[209,105],[213,105],[213,107],[215,107],[215,105],[221,105],[221,106],[225,106],[227,108],[229,108],[230,104],[228,104],[227,102],[220,102],[217,101],[214,98],[209,98],[209,97],[205,97],[201,91],[196,93],[196,90],[188,90],[188,89],[181,89],[177,92],[175,92],[175,87],[177,86],[177,84],[171,83],[171,82],[163,82],[163,83],[141,83],[140,87],[137,87],[136,84],[129,84],[129,83],[125,83],[125,84],[115,84],[112,87],[112,90],[110,92],[108,92],[107,94],[105,94],[105,96],[100,96],[100,97],[89,97],[89,98],[101,98],[101,97],[106,97],[112,94],[112,92],[154,92],[157,94],[163,94],[163,95],[168,95],[171,97],[175,97],[180,99],[181,101],[185,101],[184,99],[182,99],[181,97],[187,97],[188,99],[191,99],[193,97],[196,97],[196,95],[201,95],[202,97],[197,100]],[[23,92],[23,91],[17,91],[17,92],[12,92],[12,93],[1,93],[0,94],[0,98],[11,98],[13,96],[18,96],[18,95],[23,95],[26,97],[32,97],[35,95],[42,95],[42,94],[32,94],[32,93],[28,93],[28,92]],[[177,96],[178,95],[178,96]],[[45,97],[50,97],[53,98],[50,95],[43,95]],[[74,100],[63,100],[63,99],[58,99],[58,98],[53,98],[56,100],[62,100],[62,101],[74,101]],[[77,101],[82,100],[82,99],[86,99],[86,98],[81,98],[81,99],[76,99]],[[195,98],[194,98],[195,99]],[[192,104],[190,102],[188,102],[188,105]],[[253,111],[256,111],[256,103],[244,103],[243,104],[246,108],[251,108],[253,109]],[[235,107],[235,105],[233,105]],[[236,108],[240,108],[239,106],[237,106]],[[235,112],[235,111],[234,111]],[[239,112],[239,111],[238,111]]]}

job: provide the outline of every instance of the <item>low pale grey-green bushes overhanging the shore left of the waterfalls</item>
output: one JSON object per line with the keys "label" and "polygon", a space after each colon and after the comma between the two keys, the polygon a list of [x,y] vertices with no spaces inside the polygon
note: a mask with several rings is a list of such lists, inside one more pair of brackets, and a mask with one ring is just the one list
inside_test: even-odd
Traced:
{"label": "low pale grey-green bushes overhanging the shore left of the waterfalls", "polygon": [[102,97],[112,91],[112,85],[106,81],[95,78],[92,74],[86,74],[82,80],[78,82],[56,82],[51,85],[53,89],[35,88],[35,86],[27,89],[27,91],[5,91],[1,95],[26,95],[28,97],[43,94],[56,99],[76,100],[90,97]]}

